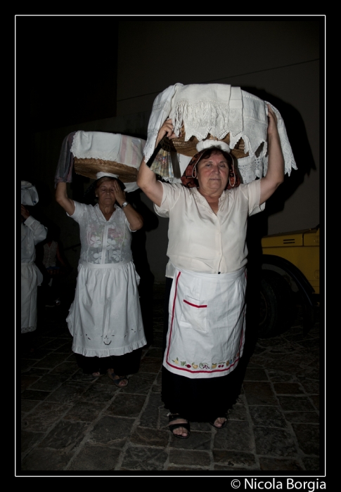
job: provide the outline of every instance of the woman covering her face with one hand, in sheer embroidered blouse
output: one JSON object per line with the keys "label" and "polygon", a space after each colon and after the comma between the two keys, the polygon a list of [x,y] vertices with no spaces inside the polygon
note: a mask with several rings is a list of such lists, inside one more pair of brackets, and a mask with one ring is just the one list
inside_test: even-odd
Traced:
{"label": "woman covering her face with one hand, in sheer embroidered blouse", "polygon": [[75,300],[67,316],[72,350],[98,357],[94,376],[105,373],[118,387],[139,370],[146,345],[137,275],[131,255],[131,233],[143,226],[141,215],[125,198],[120,182],[98,173],[92,186],[98,204],[84,205],[67,196],[57,183],[56,200],[79,224],[81,254]]}

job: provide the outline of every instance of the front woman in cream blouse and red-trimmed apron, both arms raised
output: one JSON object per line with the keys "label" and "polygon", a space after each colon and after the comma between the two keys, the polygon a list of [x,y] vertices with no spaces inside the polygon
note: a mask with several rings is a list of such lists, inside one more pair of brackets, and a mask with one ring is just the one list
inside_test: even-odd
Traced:
{"label": "front woman in cream blouse and red-trimmed apron, both arms raised", "polygon": [[[156,145],[164,136],[176,137],[172,119],[162,125]],[[191,188],[157,181],[144,160],[139,169],[139,187],[158,214],[169,216],[167,256],[174,280],[162,401],[170,411],[169,429],[181,439],[188,438],[191,420],[226,427],[233,404],[231,371],[243,354],[245,334],[247,216],[260,212],[284,179],[277,120],[270,107],[268,145],[266,176],[240,186],[233,181],[229,145],[220,141],[198,143],[188,164],[196,183]]]}

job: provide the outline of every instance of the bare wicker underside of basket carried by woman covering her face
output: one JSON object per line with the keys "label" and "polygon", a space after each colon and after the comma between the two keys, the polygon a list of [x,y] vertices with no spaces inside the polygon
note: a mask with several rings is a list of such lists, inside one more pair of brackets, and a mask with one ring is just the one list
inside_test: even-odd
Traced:
{"label": "bare wicker underside of basket carried by woman covering her face", "polygon": [[137,179],[138,170],[135,167],[120,164],[119,162],[101,159],[74,159],[75,172],[86,178],[97,179],[96,174],[100,171],[117,174],[122,183],[134,183]]}

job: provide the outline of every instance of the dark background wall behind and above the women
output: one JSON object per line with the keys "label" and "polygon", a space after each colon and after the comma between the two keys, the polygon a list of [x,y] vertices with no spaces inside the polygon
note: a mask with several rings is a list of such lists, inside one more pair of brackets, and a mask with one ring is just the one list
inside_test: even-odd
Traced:
{"label": "dark background wall behind and above the women", "polygon": [[[46,225],[58,226],[72,266],[79,257],[78,226],[54,201],[63,138],[77,130],[146,138],[157,93],[176,82],[240,86],[274,104],[298,170],[267,202],[257,227],[266,234],[319,224],[324,19],[208,19],[16,17],[16,176],[37,186],[34,213]],[[89,184],[76,175],[70,196],[82,200]],[[167,219],[153,214],[143,193],[135,192],[131,200],[145,215],[141,247],[155,280],[162,281]],[[70,281],[77,268],[73,272]]]}

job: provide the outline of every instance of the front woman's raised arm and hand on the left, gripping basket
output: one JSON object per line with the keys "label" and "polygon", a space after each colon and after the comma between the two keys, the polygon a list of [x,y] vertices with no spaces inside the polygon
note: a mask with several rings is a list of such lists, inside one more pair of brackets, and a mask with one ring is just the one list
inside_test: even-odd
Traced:
{"label": "front woman's raised arm and hand on the left, gripping basket", "polygon": [[[167,135],[168,138],[176,137],[173,132],[172,119],[166,119],[165,123],[162,124],[162,127],[157,134],[155,147],[160,143],[165,135]],[[137,175],[137,184],[141,190],[146,193],[148,198],[150,198],[150,200],[152,200],[157,207],[160,207],[163,195],[162,184],[161,181],[157,181],[155,173],[147,166],[144,157]]]}

